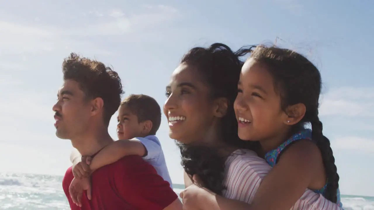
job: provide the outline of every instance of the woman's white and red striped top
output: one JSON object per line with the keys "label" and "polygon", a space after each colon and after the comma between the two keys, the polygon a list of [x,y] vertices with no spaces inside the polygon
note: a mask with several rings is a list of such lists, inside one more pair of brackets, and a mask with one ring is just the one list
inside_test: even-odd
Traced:
{"label": "woman's white and red striped top", "polygon": [[[223,196],[233,200],[251,203],[261,180],[272,169],[254,151],[238,149],[226,160]],[[321,194],[306,189],[291,210],[340,210],[337,204]]]}

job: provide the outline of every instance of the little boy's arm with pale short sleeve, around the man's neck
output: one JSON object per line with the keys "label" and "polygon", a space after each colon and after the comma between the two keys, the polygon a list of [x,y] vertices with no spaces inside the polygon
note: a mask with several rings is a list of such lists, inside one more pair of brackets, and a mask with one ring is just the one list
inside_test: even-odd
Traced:
{"label": "little boy's arm with pale short sleeve, around the man's neck", "polygon": [[146,156],[147,159],[157,158],[160,151],[160,145],[146,138],[117,140],[93,157],[90,169],[94,171],[128,155]]}

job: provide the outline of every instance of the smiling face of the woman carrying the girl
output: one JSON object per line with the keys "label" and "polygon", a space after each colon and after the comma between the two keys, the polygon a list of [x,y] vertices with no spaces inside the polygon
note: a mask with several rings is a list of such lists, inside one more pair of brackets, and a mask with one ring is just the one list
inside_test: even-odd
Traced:
{"label": "smiling face of the woman carrying the girl", "polygon": [[170,138],[186,144],[202,140],[214,121],[214,103],[198,70],[186,63],[179,65],[166,86],[166,96],[163,111]]}

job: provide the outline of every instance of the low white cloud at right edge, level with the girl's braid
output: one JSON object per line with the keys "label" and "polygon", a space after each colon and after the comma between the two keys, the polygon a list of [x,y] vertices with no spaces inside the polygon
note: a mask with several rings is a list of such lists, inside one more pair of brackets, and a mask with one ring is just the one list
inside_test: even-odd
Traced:
{"label": "low white cloud at right edge, level with the girl's braid", "polygon": [[331,147],[358,152],[374,152],[374,139],[357,136],[337,136],[331,141]]}

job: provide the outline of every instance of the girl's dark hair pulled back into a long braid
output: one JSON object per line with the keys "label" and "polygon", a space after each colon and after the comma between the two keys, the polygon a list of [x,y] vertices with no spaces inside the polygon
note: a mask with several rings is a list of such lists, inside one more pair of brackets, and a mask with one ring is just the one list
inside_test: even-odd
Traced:
{"label": "girl's dark hair pulled back into a long braid", "polygon": [[[306,112],[301,121],[292,127],[296,133],[306,123],[312,124],[312,138],[322,153],[322,160],[327,173],[325,198],[336,203],[339,175],[335,166],[329,139],[322,134],[322,123],[318,118],[319,95],[321,94],[321,74],[315,65],[299,53],[275,46],[257,46],[251,58],[267,67],[273,76],[275,89],[281,96],[281,107],[302,103]],[[287,112],[286,112],[287,113]]]}

